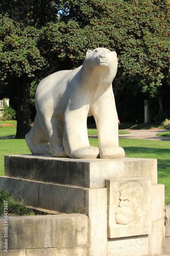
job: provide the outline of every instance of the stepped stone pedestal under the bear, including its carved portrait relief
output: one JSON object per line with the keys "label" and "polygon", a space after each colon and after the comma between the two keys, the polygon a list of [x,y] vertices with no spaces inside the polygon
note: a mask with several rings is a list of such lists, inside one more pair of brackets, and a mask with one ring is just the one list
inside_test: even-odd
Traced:
{"label": "stepped stone pedestal under the bear, including its carved portrait relief", "polygon": [[[88,249],[82,255],[90,256],[148,255],[154,252],[153,239],[162,251],[163,241],[153,232],[163,230],[163,223],[154,225],[157,205],[151,203],[157,194],[161,195],[158,201],[164,196],[159,186],[163,185],[157,185],[157,160],[138,158],[5,156],[5,177],[1,177],[1,189],[21,196],[30,205],[61,212],[77,208],[86,215]],[[126,196],[125,187],[129,189]],[[129,216],[125,223],[119,218],[123,205]]]}

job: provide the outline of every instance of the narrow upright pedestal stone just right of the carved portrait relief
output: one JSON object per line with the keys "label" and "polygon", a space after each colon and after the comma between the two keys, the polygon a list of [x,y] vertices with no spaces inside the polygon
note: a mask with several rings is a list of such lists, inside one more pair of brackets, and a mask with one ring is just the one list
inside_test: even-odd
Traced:
{"label": "narrow upright pedestal stone just right of the carved portrait relief", "polygon": [[151,186],[152,233],[149,234],[149,254],[164,254],[164,185]]}

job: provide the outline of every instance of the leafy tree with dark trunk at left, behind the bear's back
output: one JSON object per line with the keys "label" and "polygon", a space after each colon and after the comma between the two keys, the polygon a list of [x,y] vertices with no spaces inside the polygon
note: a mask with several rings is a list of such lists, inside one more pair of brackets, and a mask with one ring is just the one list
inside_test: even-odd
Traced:
{"label": "leafy tree with dark trunk at left, behind the bear's back", "polygon": [[30,85],[38,71],[47,67],[40,45],[42,27],[56,19],[53,1],[2,1],[0,4],[0,77],[17,88],[16,138],[31,129]]}

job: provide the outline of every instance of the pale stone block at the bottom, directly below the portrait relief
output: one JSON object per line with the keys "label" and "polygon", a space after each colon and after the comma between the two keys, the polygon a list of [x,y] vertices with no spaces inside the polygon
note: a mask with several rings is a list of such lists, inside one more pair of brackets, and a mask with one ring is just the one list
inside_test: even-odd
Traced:
{"label": "pale stone block at the bottom, directly below the portrait relief", "polygon": [[148,235],[108,239],[108,256],[148,255]]}

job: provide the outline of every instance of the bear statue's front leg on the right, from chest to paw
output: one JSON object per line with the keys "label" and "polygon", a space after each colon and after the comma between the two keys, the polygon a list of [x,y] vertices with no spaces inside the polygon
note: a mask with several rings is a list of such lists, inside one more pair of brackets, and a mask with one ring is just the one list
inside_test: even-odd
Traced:
{"label": "bear statue's front leg on the right, from chest to paw", "polygon": [[112,86],[91,107],[98,129],[100,158],[124,158],[125,151],[118,145],[118,117]]}

